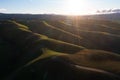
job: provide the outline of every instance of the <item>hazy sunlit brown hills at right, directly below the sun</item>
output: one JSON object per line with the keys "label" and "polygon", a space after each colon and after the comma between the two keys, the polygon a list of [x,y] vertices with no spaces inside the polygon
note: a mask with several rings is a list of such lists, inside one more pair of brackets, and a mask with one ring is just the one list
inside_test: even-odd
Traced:
{"label": "hazy sunlit brown hills at right, directly below the sun", "polygon": [[[78,45],[119,53],[120,24],[111,21],[80,19],[48,21],[49,24],[82,37]],[[114,27],[115,26],[115,27]]]}

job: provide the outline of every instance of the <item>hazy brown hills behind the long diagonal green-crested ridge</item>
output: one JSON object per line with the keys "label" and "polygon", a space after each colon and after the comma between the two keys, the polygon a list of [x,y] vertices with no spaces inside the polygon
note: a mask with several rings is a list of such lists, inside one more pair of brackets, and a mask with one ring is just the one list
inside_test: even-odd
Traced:
{"label": "hazy brown hills behind the long diagonal green-crested ridge", "polygon": [[115,53],[120,52],[120,30],[117,29],[119,28],[117,23],[117,27],[112,27],[115,23],[110,21],[89,21],[84,19],[78,19],[76,23],[75,21],[72,22],[72,20],[69,23],[59,20],[18,22],[29,26],[33,32],[44,34],[57,40],[84,46],[89,49],[107,50]]}

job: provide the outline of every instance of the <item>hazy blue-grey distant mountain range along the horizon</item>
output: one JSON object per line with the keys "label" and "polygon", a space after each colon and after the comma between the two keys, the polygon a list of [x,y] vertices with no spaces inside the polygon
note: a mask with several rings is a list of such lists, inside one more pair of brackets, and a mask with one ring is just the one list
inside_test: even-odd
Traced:
{"label": "hazy blue-grey distant mountain range along the horizon", "polygon": [[[56,17],[56,19],[64,18],[63,15],[55,15],[55,14],[4,14],[0,13],[0,20],[3,19],[51,19],[52,17]],[[80,16],[81,17],[81,16]],[[97,20],[111,20],[111,21],[120,21],[120,13],[108,13],[108,14],[95,14],[95,15],[86,15],[82,16],[86,19],[97,19]]]}

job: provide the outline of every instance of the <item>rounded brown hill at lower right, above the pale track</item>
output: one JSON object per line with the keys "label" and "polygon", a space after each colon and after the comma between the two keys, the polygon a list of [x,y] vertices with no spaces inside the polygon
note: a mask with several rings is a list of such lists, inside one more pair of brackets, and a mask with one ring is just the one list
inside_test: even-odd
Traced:
{"label": "rounded brown hill at lower right, above the pale track", "polygon": [[120,55],[103,50],[85,49],[73,55],[62,56],[76,65],[120,73]]}

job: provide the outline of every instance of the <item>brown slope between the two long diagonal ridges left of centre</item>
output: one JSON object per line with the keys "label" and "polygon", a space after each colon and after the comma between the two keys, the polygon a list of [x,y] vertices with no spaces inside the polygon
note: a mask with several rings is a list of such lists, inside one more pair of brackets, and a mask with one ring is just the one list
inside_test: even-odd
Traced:
{"label": "brown slope between the two long diagonal ridges left of centre", "polygon": [[44,21],[18,21],[24,25],[27,25],[33,32],[46,35],[50,38],[62,40],[72,44],[78,44],[81,42],[82,37],[72,34],[68,31],[57,28]]}

